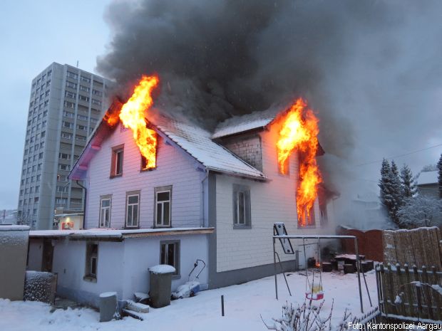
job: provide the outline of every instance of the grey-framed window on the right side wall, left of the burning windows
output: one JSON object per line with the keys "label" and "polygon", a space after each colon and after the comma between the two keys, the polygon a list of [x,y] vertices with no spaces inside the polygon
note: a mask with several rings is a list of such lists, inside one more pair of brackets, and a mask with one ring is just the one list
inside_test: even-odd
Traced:
{"label": "grey-framed window on the right side wall, left of the burning windows", "polygon": [[250,187],[233,184],[233,228],[251,228]]}

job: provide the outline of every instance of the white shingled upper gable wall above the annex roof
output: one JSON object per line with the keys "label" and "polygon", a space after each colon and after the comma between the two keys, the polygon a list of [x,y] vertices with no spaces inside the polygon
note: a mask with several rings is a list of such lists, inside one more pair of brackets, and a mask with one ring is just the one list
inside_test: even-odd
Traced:
{"label": "white shingled upper gable wall above the annex roof", "polygon": [[[110,179],[112,147],[124,144],[123,176]],[[201,180],[205,174],[182,150],[159,139],[157,168],[140,172],[140,151],[131,130],[120,125],[103,142],[93,157],[87,174],[88,201],[85,228],[98,227],[100,196],[112,194],[111,227],[125,226],[127,191],[140,190],[140,228],[153,227],[154,188],[172,185],[171,223],[173,227],[200,226]]]}

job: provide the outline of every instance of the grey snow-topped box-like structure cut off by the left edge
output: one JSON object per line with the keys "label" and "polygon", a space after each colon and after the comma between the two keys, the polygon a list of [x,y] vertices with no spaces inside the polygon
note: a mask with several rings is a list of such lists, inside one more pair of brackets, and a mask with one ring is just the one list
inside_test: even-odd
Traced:
{"label": "grey snow-topped box-like structure cut off by the left edge", "polygon": [[0,298],[23,300],[29,226],[0,225]]}

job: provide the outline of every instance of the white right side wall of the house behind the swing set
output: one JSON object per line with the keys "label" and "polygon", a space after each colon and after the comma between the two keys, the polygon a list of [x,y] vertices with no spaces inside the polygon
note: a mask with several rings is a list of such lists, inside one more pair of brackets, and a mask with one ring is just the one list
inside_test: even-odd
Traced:
{"label": "white right side wall of the house behind the swing set", "polygon": [[[279,127],[272,125],[270,130],[259,135],[262,139],[262,169],[269,177],[268,182],[257,182],[222,174],[216,176],[217,211],[217,272],[248,268],[273,263],[272,234],[274,222],[284,222],[289,234],[322,233],[320,227],[319,204],[314,203],[316,226],[298,228],[296,187],[298,181],[297,153],[292,153],[289,175],[279,174],[277,164],[277,132]],[[233,228],[233,184],[250,186],[251,229]],[[299,244],[302,241],[293,241]],[[302,246],[298,249],[299,265],[304,264]],[[279,243],[277,250],[282,261],[294,259],[293,255],[282,253]],[[317,246],[307,247],[307,258],[317,256]]]}

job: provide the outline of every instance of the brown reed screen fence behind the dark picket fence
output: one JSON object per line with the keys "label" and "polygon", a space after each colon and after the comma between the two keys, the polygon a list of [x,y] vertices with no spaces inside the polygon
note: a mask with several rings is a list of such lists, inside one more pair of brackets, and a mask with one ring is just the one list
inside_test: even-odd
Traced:
{"label": "brown reed screen fence behind the dark picket fence", "polygon": [[413,230],[384,230],[384,263],[435,266],[442,270],[441,232],[436,226]]}

